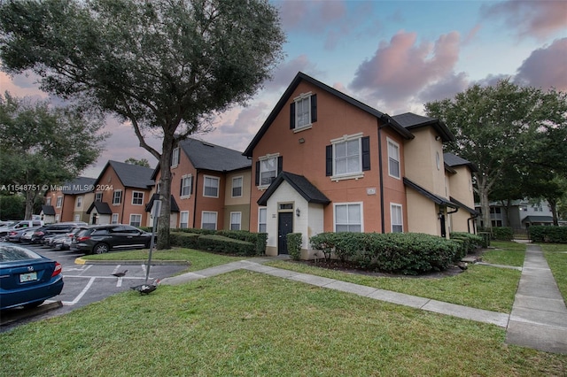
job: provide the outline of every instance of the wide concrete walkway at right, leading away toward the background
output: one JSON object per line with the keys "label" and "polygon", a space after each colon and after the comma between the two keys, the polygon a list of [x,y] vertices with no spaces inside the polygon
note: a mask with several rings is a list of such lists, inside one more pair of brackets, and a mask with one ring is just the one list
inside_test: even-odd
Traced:
{"label": "wide concrete walkway at right, leading away toward the background", "polygon": [[567,354],[567,308],[540,246],[527,246],[506,342]]}

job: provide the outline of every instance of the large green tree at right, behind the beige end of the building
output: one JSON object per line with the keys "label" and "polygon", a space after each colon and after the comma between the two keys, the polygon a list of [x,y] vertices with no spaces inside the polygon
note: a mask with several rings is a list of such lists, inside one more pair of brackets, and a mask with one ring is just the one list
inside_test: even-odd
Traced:
{"label": "large green tree at right, behind the beige end of the building", "polygon": [[[546,180],[552,181],[555,172],[565,172],[567,96],[563,92],[504,80],[495,86],[474,85],[454,98],[425,104],[425,110],[455,135],[447,150],[478,166],[475,192],[488,229],[492,228],[491,199],[506,199],[507,190],[513,196],[509,198],[542,193]],[[545,172],[546,178],[540,179]],[[540,188],[534,190],[536,183]]]}

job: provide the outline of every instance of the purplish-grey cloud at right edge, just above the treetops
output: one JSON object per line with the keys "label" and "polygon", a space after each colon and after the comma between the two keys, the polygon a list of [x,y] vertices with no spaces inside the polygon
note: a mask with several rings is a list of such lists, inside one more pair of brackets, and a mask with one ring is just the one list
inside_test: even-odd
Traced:
{"label": "purplish-grey cloud at right edge, just above the treetops", "polygon": [[567,91],[567,38],[532,51],[517,69],[515,81],[536,88]]}

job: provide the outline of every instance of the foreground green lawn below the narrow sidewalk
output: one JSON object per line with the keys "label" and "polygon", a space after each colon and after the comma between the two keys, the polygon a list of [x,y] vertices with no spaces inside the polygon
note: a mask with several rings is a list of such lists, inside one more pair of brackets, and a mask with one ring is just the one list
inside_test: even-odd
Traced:
{"label": "foreground green lawn below the narrow sidewalk", "polygon": [[0,334],[6,376],[564,375],[505,329],[237,271]]}

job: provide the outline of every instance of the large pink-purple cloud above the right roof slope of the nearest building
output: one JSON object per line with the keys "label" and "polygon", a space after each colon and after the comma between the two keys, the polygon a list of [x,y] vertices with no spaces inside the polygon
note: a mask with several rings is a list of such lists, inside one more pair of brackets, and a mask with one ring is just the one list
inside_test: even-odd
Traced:
{"label": "large pink-purple cloud above the right roof slope of the nearest building", "polygon": [[460,36],[456,32],[439,36],[435,43],[417,44],[416,33],[400,31],[390,42],[380,42],[374,56],[359,65],[349,85],[353,91],[365,92],[373,102],[399,106],[415,98],[425,88],[454,74],[459,58]]}

